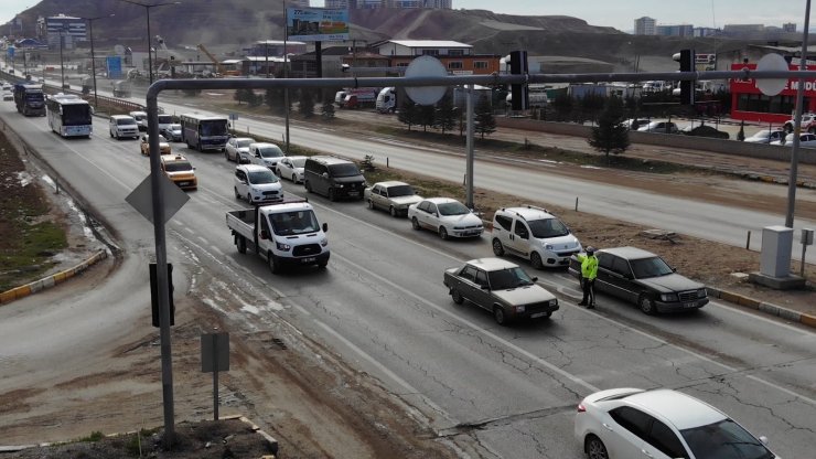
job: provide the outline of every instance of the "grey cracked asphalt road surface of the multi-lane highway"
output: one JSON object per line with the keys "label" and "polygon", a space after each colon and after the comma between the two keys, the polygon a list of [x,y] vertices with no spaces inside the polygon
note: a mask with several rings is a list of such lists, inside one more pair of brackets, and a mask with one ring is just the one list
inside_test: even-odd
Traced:
{"label": "grey cracked asphalt road surface of the multi-lane highway", "polygon": [[[68,351],[78,339],[75,334],[55,334],[47,346],[23,344],[24,335],[44,332],[50,318],[61,320],[62,329],[78,328],[82,319],[72,319],[65,308],[87,300],[88,308],[98,307],[106,293],[127,296],[126,303],[141,299],[142,306],[97,308],[98,320],[119,327],[143,320],[136,311],[148,310],[143,264],[153,245],[149,223],[124,201],[148,174],[138,142],[110,139],[104,120],[95,122],[90,140],[64,141],[47,131],[44,118],[23,118],[10,104],[0,106],[0,117],[82,193],[126,250],[124,268],[87,298],[65,299],[39,312],[45,314],[39,320],[20,310],[0,310],[0,361],[14,355],[19,370],[14,377],[0,380],[6,392],[86,359]],[[266,130],[272,137],[281,129],[243,122],[250,131]],[[440,156],[390,140],[339,138],[303,128],[293,128],[292,139],[352,157],[379,151],[391,158],[391,166],[420,173],[447,171],[447,178],[455,178],[464,172],[455,152]],[[816,334],[810,330],[716,301],[679,317],[646,317],[611,299],[604,299],[600,310],[588,311],[575,306],[578,285],[561,271],[538,273],[540,282],[561,300],[551,320],[502,328],[488,313],[455,306],[442,286],[444,268],[492,254],[486,237],[443,242],[359,202],[331,203],[314,195],[310,202],[330,226],[329,268],[272,276],[262,259],[237,254],[224,224],[227,210],[244,205],[232,193],[234,163],[223,154],[191,152],[180,143],[174,148],[189,156],[200,180],[198,191],[190,193],[191,201],[168,226],[169,257],[187,278],[184,287],[228,317],[234,330],[258,331],[269,321],[282,321],[324,343],[382,380],[440,437],[475,457],[580,458],[571,433],[577,403],[593,391],[618,386],[680,388],[766,435],[781,456],[809,455],[816,440]],[[501,166],[480,163],[476,173],[480,185],[493,183],[504,192],[519,190],[537,198],[560,193],[559,199],[572,202],[570,190],[587,188],[594,198],[582,202],[598,201],[588,206],[605,202],[637,215],[640,210],[633,207],[647,205],[638,201],[645,196],[631,190],[567,180],[546,170],[514,168],[509,178]],[[284,188],[304,194],[300,185],[287,182]],[[711,232],[728,221],[716,212],[731,212],[731,225],[762,218],[705,203],[648,199],[679,214],[713,212]],[[653,207],[665,214],[661,209]],[[683,223],[679,216],[664,218],[667,224]],[[200,282],[202,271],[217,281]],[[111,345],[105,332],[94,333],[87,325],[84,330],[82,338],[90,344]],[[42,367],[45,362],[51,367]]]}

